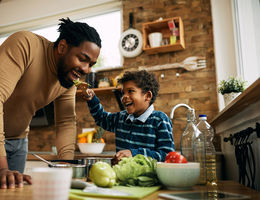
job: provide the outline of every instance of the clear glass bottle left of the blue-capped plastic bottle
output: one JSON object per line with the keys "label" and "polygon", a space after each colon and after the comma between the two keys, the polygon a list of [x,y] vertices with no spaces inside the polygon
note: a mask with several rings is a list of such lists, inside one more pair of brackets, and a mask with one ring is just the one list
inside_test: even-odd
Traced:
{"label": "clear glass bottle left of the blue-capped plastic bottle", "polygon": [[181,136],[181,154],[188,162],[200,163],[199,184],[206,183],[205,138],[195,125],[195,111],[188,110],[187,126]]}

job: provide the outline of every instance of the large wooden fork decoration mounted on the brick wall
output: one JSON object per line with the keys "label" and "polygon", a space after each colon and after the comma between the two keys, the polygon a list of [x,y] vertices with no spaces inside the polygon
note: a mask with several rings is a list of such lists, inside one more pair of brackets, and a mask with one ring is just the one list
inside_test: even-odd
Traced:
{"label": "large wooden fork decoration mounted on the brick wall", "polygon": [[138,70],[158,71],[158,70],[165,70],[165,69],[184,68],[187,71],[195,71],[206,67],[207,66],[206,66],[205,57],[192,56],[186,58],[180,63],[169,63],[164,65],[155,65],[151,67],[140,66],[138,67]]}

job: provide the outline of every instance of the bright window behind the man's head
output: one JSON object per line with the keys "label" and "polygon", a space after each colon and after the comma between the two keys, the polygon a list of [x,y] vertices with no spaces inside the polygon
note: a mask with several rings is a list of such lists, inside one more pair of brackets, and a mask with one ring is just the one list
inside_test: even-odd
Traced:
{"label": "bright window behind the man's head", "polygon": [[[108,70],[122,66],[122,56],[119,51],[118,43],[121,35],[121,12],[114,11],[106,14],[96,15],[84,19],[73,21],[86,22],[93,26],[100,35],[102,40],[102,48],[97,64],[93,67],[94,70]],[[54,42],[59,33],[57,32],[58,25],[49,26],[46,28],[32,30],[32,32],[42,35],[48,40]],[[0,44],[7,37],[0,38]]]}

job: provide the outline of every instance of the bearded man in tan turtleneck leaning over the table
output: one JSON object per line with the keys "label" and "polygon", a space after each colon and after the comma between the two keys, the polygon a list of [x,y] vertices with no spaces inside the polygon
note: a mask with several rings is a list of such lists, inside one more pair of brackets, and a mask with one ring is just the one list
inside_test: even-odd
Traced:
{"label": "bearded man in tan turtleneck leaning over the table", "polygon": [[101,39],[86,23],[61,19],[54,42],[28,31],[0,46],[0,187],[31,183],[24,171],[27,135],[34,113],[54,101],[56,147],[60,159],[73,159],[76,137],[73,81],[90,72]]}

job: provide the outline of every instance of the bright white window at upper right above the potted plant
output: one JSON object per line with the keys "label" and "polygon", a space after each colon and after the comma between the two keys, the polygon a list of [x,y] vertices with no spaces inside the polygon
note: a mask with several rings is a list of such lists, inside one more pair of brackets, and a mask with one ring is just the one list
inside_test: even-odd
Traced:
{"label": "bright white window at upper right above the potted plant", "polygon": [[260,76],[260,1],[234,0],[232,6],[237,71],[251,84]]}

